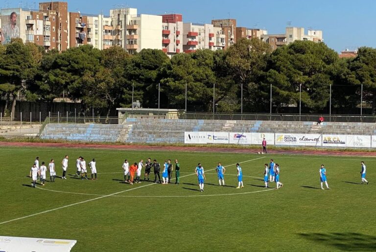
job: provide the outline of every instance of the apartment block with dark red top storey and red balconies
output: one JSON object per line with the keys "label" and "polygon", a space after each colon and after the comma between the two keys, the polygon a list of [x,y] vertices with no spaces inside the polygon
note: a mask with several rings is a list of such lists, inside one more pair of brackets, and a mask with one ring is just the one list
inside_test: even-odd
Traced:
{"label": "apartment block with dark red top storey and red balconies", "polygon": [[162,16],[162,50],[168,57],[183,52],[183,15]]}

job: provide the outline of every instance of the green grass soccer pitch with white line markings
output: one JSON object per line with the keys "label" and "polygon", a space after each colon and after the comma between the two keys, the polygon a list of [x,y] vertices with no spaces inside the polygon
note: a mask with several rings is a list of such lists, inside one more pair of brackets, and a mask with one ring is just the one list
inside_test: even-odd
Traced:
{"label": "green grass soccer pitch with white line markings", "polygon": [[[376,161],[372,158],[106,149],[0,148],[0,235],[77,240],[73,252],[93,251],[336,251],[376,250]],[[96,159],[98,180],[67,180],[31,188],[29,170],[53,158]],[[178,159],[180,185],[122,183],[121,165],[142,158]],[[266,189],[263,167],[280,164],[282,189]],[[361,185],[360,161],[369,185]],[[215,167],[226,167],[219,187]],[[200,192],[194,169],[205,168]],[[237,186],[235,164],[243,170]],[[320,189],[324,164],[330,190]],[[90,169],[88,169],[90,173]],[[175,176],[173,176],[174,178]],[[141,178],[143,179],[143,173]],[[151,175],[154,179],[154,175]],[[47,172],[47,181],[49,175]],[[175,182],[174,180],[172,181]],[[270,183],[272,188],[275,183]]]}

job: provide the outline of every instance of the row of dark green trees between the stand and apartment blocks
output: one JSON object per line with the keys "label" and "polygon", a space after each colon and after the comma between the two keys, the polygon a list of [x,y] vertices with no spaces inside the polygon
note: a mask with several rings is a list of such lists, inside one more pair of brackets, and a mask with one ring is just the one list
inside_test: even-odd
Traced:
{"label": "row of dark green trees between the stand and apartment blocks", "polygon": [[[160,101],[158,90],[160,84]],[[215,94],[213,101],[213,87]],[[85,108],[110,111],[142,107],[273,113],[288,106],[302,113],[348,114],[363,101],[376,112],[376,49],[361,47],[356,58],[340,59],[325,43],[296,41],[272,51],[258,39],[241,39],[226,51],[198,50],[169,59],[162,50],[129,55],[119,47],[90,45],[64,52],[14,39],[0,45],[0,94],[9,115],[23,94],[27,101],[51,103],[63,92]],[[272,89],[272,90],[270,90]]]}

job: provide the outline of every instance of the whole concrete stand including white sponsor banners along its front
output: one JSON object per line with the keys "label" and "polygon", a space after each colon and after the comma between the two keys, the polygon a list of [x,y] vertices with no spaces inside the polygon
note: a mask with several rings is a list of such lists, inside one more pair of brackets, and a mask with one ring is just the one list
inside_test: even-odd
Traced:
{"label": "whole concrete stand including white sponsor banners along its front", "polygon": [[121,125],[47,124],[42,139],[83,142],[241,144],[311,147],[376,147],[376,128],[366,123],[168,120],[128,118]]}

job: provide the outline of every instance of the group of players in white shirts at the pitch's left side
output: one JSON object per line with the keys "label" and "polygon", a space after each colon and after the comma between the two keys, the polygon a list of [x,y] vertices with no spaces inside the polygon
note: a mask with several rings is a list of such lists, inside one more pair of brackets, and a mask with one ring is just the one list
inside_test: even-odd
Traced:
{"label": "group of players in white shirts at the pitch's left side", "polygon": [[[63,169],[63,175],[61,176],[62,179],[67,179],[67,169],[68,169],[68,159],[69,156],[65,156],[63,161],[61,161],[62,169]],[[96,162],[95,158],[89,163],[89,167],[92,170],[92,180],[97,179],[96,175]],[[88,179],[88,171],[86,167],[86,161],[83,157],[79,157],[76,160],[76,168],[77,172],[75,176],[80,176],[81,175],[81,180],[84,180],[84,175],[85,179]],[[54,183],[55,178],[56,178],[56,169],[55,169],[55,162],[53,159],[48,164],[48,171],[49,171],[49,179],[50,182]],[[42,162],[42,165],[39,166],[39,157],[36,157],[34,164],[32,168],[30,169],[30,175],[29,175],[33,182],[33,188],[35,188],[35,184],[38,180],[38,176],[40,177],[41,185],[44,186],[46,183],[46,176],[47,176],[47,167],[45,166],[45,162]]]}

